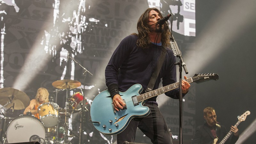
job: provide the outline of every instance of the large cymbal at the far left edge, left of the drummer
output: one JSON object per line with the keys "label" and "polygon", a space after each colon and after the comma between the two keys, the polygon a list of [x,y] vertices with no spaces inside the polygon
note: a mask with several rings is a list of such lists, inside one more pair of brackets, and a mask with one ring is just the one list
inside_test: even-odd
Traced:
{"label": "large cymbal at the far left edge, left of the drummer", "polygon": [[0,89],[0,104],[4,106],[12,100],[12,103],[6,105],[6,108],[11,108],[14,103],[14,110],[25,109],[30,103],[28,95],[20,90],[10,87]]}

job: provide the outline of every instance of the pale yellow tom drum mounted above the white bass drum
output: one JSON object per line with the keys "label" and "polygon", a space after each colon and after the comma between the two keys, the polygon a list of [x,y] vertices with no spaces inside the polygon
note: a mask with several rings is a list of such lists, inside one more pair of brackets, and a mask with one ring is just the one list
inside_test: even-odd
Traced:
{"label": "pale yellow tom drum mounted above the white bass drum", "polygon": [[54,102],[46,102],[38,107],[40,120],[45,127],[53,127],[58,124],[58,104]]}

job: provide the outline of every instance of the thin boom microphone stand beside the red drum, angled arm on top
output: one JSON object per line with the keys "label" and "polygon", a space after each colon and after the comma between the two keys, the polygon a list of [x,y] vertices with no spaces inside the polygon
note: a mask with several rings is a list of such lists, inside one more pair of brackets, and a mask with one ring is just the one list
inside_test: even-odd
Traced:
{"label": "thin boom microphone stand beside the red drum, angled arm on top", "polygon": [[[80,65],[76,60],[74,60],[74,58],[70,57],[68,55],[68,58],[72,59],[74,62],[76,62],[81,68],[84,69],[84,90],[85,90],[85,77],[86,77],[86,72],[88,72],[90,75],[92,75],[92,73],[90,73],[86,68],[84,68],[82,65]],[[93,75],[92,75],[93,76]],[[83,144],[83,121],[84,121],[84,93],[81,90],[82,94],[83,94],[83,105],[81,105],[81,110],[80,110],[80,128],[79,128],[79,144]]]}

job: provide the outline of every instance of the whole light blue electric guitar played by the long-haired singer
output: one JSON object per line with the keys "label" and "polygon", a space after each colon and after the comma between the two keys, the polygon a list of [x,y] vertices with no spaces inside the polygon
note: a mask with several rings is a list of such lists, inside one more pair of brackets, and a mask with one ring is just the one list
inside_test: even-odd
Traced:
{"label": "whole light blue electric guitar played by the long-haired singer", "polygon": [[[218,74],[195,74],[195,76],[186,79],[188,83],[201,83],[208,80],[218,80]],[[91,119],[94,127],[105,135],[115,135],[122,132],[132,118],[148,116],[150,110],[143,106],[147,99],[171,91],[180,86],[180,82],[164,86],[162,88],[143,93],[140,84],[132,85],[126,92],[120,92],[125,108],[116,111],[112,103],[108,90],[98,94],[91,105]]]}

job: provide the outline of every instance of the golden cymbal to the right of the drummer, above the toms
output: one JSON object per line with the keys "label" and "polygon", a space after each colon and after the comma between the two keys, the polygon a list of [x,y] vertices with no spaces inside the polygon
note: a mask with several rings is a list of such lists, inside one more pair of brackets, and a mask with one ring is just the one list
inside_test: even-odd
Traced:
{"label": "golden cymbal to the right of the drummer, above the toms", "polygon": [[74,89],[81,85],[80,82],[76,80],[70,80],[70,79],[63,79],[63,80],[57,80],[52,83],[52,86],[58,88],[58,89]]}

